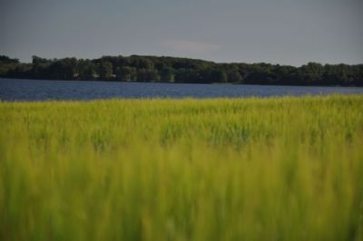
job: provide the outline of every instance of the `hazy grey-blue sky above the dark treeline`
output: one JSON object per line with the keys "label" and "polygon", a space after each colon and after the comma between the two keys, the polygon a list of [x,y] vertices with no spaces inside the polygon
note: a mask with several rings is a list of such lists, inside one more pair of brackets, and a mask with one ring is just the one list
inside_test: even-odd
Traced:
{"label": "hazy grey-blue sky above the dark treeline", "polygon": [[363,63],[362,0],[0,0],[0,54]]}

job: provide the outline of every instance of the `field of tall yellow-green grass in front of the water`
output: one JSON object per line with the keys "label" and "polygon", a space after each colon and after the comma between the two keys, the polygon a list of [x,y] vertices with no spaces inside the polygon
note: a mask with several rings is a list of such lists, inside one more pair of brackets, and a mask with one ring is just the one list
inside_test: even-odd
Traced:
{"label": "field of tall yellow-green grass in front of the water", "polygon": [[0,240],[363,240],[363,96],[0,102]]}

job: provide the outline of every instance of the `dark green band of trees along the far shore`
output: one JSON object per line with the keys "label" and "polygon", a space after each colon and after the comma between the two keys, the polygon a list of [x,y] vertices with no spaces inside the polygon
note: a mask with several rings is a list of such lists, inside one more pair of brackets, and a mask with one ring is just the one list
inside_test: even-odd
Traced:
{"label": "dark green band of trees along the far shore", "polygon": [[213,63],[156,56],[103,56],[99,59],[44,59],[20,63],[0,55],[0,77],[115,82],[231,82],[246,84],[363,86],[363,64]]}

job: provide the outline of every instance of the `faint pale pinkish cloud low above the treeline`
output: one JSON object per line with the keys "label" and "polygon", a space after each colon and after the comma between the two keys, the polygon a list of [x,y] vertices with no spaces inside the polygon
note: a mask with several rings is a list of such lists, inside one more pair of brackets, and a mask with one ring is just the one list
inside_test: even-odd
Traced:
{"label": "faint pale pinkish cloud low above the treeline", "polygon": [[213,43],[201,43],[188,40],[164,41],[162,46],[171,48],[175,51],[188,53],[210,53],[220,48],[219,45]]}

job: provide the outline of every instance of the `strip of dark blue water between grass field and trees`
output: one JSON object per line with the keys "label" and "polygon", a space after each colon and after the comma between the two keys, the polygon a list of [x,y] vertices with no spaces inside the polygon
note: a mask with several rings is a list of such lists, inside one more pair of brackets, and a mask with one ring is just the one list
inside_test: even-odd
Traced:
{"label": "strip of dark blue water between grass field and trees", "polygon": [[214,98],[363,93],[359,87],[300,87],[234,84],[83,82],[0,79],[1,101],[108,98]]}

